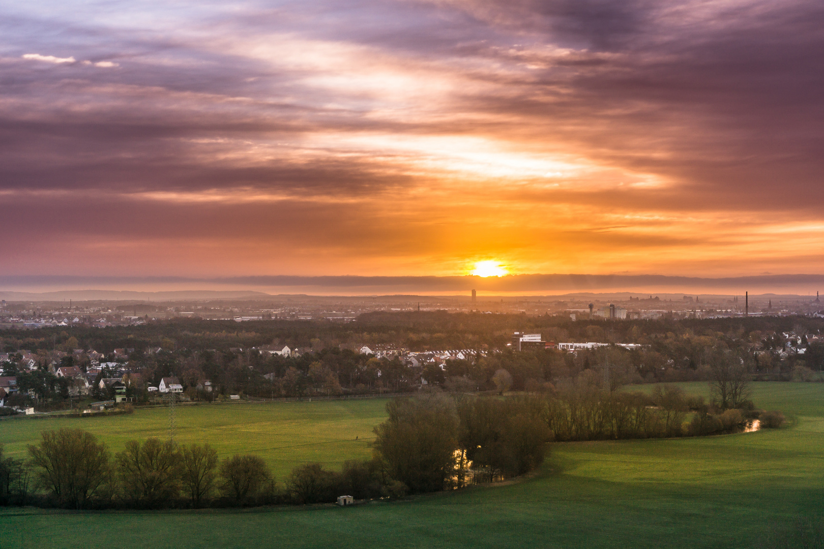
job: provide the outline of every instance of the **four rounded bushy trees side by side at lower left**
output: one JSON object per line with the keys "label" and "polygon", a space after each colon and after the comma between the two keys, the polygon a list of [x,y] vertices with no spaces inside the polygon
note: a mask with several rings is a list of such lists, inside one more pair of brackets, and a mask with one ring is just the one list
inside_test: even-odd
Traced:
{"label": "four rounded bushy trees side by side at lower left", "polygon": [[236,455],[218,460],[209,444],[175,444],[152,438],[130,440],[111,455],[104,442],[81,429],[45,430],[28,447],[36,486],[56,505],[152,508],[185,494],[202,505],[216,493],[243,502],[273,481],[262,459]]}

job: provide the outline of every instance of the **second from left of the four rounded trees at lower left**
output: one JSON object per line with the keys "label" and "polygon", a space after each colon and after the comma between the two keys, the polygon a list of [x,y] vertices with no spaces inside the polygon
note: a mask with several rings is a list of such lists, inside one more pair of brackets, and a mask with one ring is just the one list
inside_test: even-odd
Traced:
{"label": "second from left of the four rounded trees at lower left", "polygon": [[115,459],[124,493],[135,504],[153,507],[180,493],[180,450],[171,440],[129,440]]}

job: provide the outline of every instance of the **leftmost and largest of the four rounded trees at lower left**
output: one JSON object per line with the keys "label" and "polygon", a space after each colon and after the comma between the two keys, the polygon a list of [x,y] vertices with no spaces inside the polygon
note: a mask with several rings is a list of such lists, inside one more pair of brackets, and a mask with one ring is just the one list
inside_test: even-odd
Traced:
{"label": "leftmost and largest of the four rounded trees at lower left", "polygon": [[60,505],[84,508],[105,482],[109,451],[85,430],[44,430],[40,444],[29,444],[28,449],[40,486]]}

